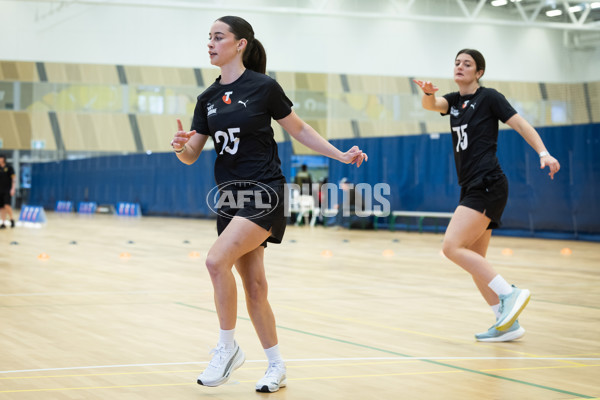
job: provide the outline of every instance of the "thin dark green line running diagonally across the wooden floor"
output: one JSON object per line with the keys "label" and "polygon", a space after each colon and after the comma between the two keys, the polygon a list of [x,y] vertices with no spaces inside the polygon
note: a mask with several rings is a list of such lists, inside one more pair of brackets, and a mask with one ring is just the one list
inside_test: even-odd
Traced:
{"label": "thin dark green line running diagonally across the wooden floor", "polygon": [[[204,307],[193,306],[191,304],[186,304],[186,303],[181,303],[181,302],[175,302],[175,304],[178,304],[178,305],[184,306],[184,307],[194,308],[196,310],[202,310],[202,311],[210,312],[210,313],[213,313],[213,314],[217,313],[215,310],[212,310],[212,309],[209,309],[209,308],[204,308]],[[240,316],[238,316],[238,318],[241,319],[241,320],[244,320],[244,321],[250,321],[250,318],[240,317]],[[286,326],[281,326],[281,325],[277,325],[277,328],[278,329],[283,329],[283,330],[286,330],[286,331],[290,331],[290,332],[301,333],[303,335],[318,337],[318,338],[325,339],[325,340],[331,340],[331,341],[338,342],[338,343],[344,343],[344,344],[348,344],[348,345],[351,345],[351,346],[362,347],[364,349],[375,350],[375,351],[379,351],[379,352],[386,353],[386,354],[391,354],[391,355],[400,356],[400,357],[411,357],[412,358],[412,356],[410,356],[408,354],[402,354],[402,353],[398,353],[398,352],[395,352],[395,351],[386,350],[386,349],[382,349],[382,348],[379,348],[379,347],[370,346],[370,345],[366,345],[366,344],[351,342],[349,340],[338,339],[338,338],[334,338],[334,337],[331,337],[331,336],[325,336],[325,335],[321,335],[321,334],[318,334],[318,333],[307,332],[307,331],[303,331],[303,330],[295,329],[295,328],[288,328]],[[537,383],[522,381],[522,380],[519,380],[519,379],[508,378],[508,377],[505,377],[505,376],[490,374],[490,373],[487,373],[487,372],[477,371],[477,370],[474,370],[474,369],[463,368],[463,367],[459,367],[459,366],[456,366],[456,365],[443,363],[443,362],[440,362],[440,361],[434,361],[434,360],[420,360],[420,361],[424,361],[424,362],[427,362],[427,363],[430,363],[430,364],[440,365],[440,366],[447,367],[447,368],[457,369],[457,370],[464,371],[464,372],[471,372],[471,373],[474,373],[474,374],[484,375],[484,376],[487,376],[487,377],[490,377],[490,378],[497,378],[497,379],[502,379],[502,380],[509,381],[509,382],[520,383],[520,384],[523,384],[523,385],[532,386],[532,387],[536,387],[536,388],[539,388],[539,389],[546,389],[546,390],[550,390],[550,391],[557,392],[557,393],[568,394],[568,395],[576,396],[576,397],[582,398],[582,399],[594,399],[594,396],[586,396],[584,394],[579,394],[579,393],[575,393],[575,392],[569,392],[567,390],[557,389],[557,388],[553,388],[553,387],[550,387],[550,386],[538,385]]]}

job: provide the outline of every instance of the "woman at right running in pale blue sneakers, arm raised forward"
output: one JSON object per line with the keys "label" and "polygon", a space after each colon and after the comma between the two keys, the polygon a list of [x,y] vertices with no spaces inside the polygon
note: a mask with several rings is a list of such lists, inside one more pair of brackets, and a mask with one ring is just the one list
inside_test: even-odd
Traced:
{"label": "woman at right running in pale blue sneakers, arm raised forward", "polygon": [[475,338],[505,342],[525,333],[517,318],[529,302],[530,293],[508,284],[485,259],[492,229],[500,226],[508,199],[508,182],[496,157],[498,121],[517,131],[538,153],[540,167],[550,169],[551,179],[560,164],[548,153],[536,130],[517,114],[501,93],[479,85],[484,72],[483,55],[477,50],[463,49],[454,61],[457,92],[437,97],[438,88],[431,82],[414,82],[423,90],[423,108],[450,114],[461,193],[459,206],[444,236],[443,252],[471,274],[496,316],[496,323]]}

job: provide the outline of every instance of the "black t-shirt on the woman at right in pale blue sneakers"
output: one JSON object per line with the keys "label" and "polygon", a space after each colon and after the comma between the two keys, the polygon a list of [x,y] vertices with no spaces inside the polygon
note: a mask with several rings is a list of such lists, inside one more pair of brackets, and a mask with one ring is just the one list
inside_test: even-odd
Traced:
{"label": "black t-shirt on the woman at right in pale blue sneakers", "polygon": [[477,185],[488,175],[502,174],[496,157],[498,120],[506,122],[517,112],[497,90],[480,87],[474,94],[444,95],[448,101],[454,162],[458,184]]}

